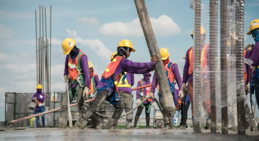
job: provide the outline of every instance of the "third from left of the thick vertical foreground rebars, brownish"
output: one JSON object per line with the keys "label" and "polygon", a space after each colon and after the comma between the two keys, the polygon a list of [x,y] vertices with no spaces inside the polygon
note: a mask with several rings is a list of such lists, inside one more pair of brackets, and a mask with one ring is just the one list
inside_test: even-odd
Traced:
{"label": "third from left of the thick vertical foreground rebars, brownish", "polygon": [[220,1],[220,85],[222,134],[228,134],[227,115],[227,1]]}

